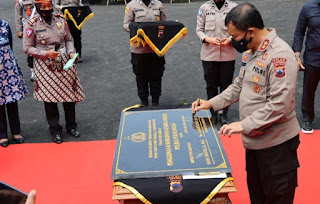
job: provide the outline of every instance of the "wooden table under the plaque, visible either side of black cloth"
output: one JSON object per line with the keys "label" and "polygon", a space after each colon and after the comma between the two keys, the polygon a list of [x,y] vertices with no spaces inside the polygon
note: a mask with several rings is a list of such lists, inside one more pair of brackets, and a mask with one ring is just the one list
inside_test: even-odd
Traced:
{"label": "wooden table under the plaque, visible either side of black cloth", "polygon": [[[228,181],[208,204],[228,204],[228,194],[236,191],[234,182]],[[121,186],[113,187],[112,200],[119,200],[120,204],[143,204],[128,189]]]}

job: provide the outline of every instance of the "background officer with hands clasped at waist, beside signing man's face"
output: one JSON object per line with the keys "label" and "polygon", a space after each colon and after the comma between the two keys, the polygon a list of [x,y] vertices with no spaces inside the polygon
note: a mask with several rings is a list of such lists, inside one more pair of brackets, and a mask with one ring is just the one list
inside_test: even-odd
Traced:
{"label": "background officer with hands clasped at waist, beside signing man's face", "polygon": [[[223,92],[233,79],[237,51],[232,47],[231,37],[224,20],[229,11],[237,6],[230,0],[211,0],[201,5],[197,17],[197,36],[202,44],[201,60],[208,99]],[[217,113],[210,109],[215,123]],[[227,124],[228,107],[219,111],[220,124]]]}

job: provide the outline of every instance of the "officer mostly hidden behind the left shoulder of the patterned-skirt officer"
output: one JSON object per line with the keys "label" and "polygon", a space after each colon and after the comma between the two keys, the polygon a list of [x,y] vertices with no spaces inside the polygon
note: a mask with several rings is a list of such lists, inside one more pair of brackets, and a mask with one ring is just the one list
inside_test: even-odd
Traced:
{"label": "officer mostly hidden behind the left shoulder of the patterned-skirt officer", "polygon": [[[15,20],[16,20],[16,31],[18,38],[23,36],[23,27],[29,18],[34,13],[33,0],[16,0],[15,8]],[[34,79],[34,69],[33,69],[33,58],[32,56],[27,57],[28,66],[30,67],[31,77],[30,80]]]}

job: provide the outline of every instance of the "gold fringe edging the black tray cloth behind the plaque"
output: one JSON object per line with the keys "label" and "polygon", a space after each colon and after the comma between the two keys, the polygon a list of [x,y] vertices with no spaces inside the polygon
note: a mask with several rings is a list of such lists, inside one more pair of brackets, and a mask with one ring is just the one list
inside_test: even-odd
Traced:
{"label": "gold fringe edging the black tray cloth behind the plaque", "polygon": [[[140,46],[140,44],[143,45],[143,47],[145,46],[145,43],[147,43],[150,48],[159,56],[162,57],[170,48],[173,44],[175,44],[180,38],[186,38],[188,34],[188,29],[187,28],[182,28],[179,33],[177,33],[165,46],[164,48],[162,48],[162,50],[159,50],[154,44],[153,42],[150,40],[150,38],[146,35],[146,33],[144,32],[144,30],[139,29],[137,31],[137,35],[135,35],[134,37],[132,37],[130,39],[130,45],[132,46],[133,44],[137,44],[137,47]],[[139,38],[138,36],[142,35],[144,38],[144,41]]]}

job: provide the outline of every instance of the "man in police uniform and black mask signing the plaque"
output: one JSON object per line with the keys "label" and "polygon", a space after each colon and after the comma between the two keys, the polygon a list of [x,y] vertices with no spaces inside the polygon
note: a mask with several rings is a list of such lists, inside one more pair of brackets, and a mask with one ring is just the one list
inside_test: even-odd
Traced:
{"label": "man in police uniform and black mask signing the plaque", "polygon": [[[222,135],[242,133],[252,204],[292,204],[297,186],[300,127],[295,113],[299,65],[291,47],[265,28],[252,4],[226,17],[232,45],[242,57],[239,76],[220,95],[192,104],[193,111],[221,110],[239,100],[240,121],[223,125]],[[247,51],[248,50],[248,51]]]}

